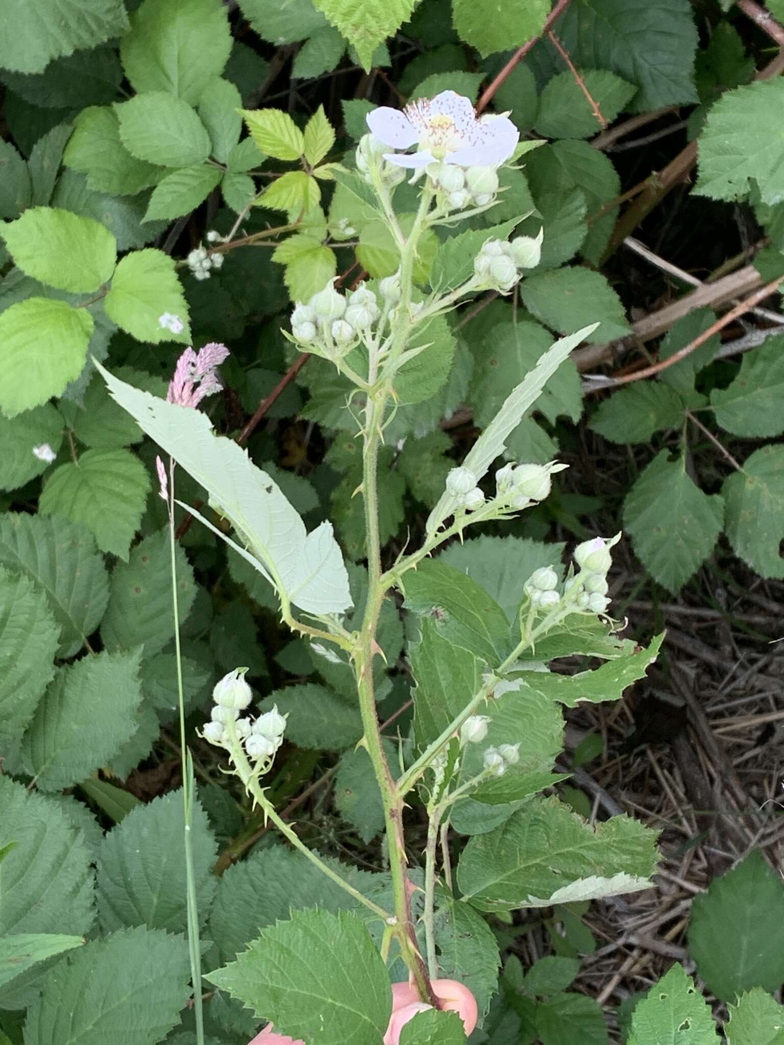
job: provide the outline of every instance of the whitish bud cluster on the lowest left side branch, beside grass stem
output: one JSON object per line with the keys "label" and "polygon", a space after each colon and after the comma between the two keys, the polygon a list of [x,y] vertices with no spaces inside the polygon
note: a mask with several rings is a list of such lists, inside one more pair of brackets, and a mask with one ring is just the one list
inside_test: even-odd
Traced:
{"label": "whitish bud cluster on the lowest left side branch, beside grass stem", "polygon": [[234,746],[231,735],[233,723],[237,742],[245,748],[251,764],[266,772],[283,742],[286,716],[281,715],[275,706],[256,719],[239,717],[239,713],[248,707],[253,697],[251,688],[245,680],[247,671],[247,668],[236,668],[224,675],[215,686],[212,691],[214,704],[203,736],[210,744],[231,753]]}

